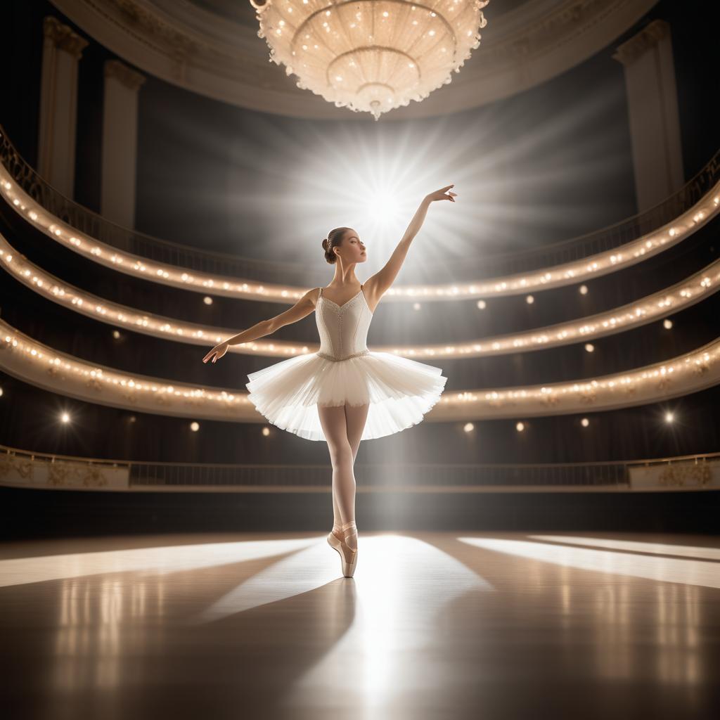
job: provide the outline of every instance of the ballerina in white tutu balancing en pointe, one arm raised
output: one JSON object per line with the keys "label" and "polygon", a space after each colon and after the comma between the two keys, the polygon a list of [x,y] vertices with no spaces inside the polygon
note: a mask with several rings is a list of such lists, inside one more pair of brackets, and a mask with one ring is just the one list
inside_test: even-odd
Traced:
{"label": "ballerina in white tutu balancing en pointe, one arm raised", "polygon": [[377,305],[400,271],[428,207],[438,200],[455,202],[451,187],[423,198],[390,259],[363,284],[355,276],[355,267],[366,261],[367,251],[358,233],[353,228],[330,230],[323,249],[325,260],[335,265],[332,282],[308,290],[280,315],[218,343],[202,359],[215,363],[228,346],[269,336],[315,311],[320,350],[250,373],[246,387],[248,400],[273,425],[308,440],[327,442],[333,466],[334,516],[328,544],[340,554],[344,577],[353,577],[358,559],[353,466],[360,442],[419,423],[438,402],[447,382],[441,368],[371,351],[366,341]]}

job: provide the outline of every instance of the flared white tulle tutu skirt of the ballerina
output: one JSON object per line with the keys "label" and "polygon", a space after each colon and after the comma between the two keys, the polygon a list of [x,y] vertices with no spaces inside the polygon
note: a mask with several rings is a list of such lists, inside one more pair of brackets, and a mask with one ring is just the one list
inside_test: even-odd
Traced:
{"label": "flared white tulle tutu skirt of the ballerina", "polygon": [[248,374],[248,400],[270,423],[307,440],[325,440],[318,405],[366,405],[362,440],[417,425],[438,402],[441,368],[384,352],[346,360],[297,355]]}

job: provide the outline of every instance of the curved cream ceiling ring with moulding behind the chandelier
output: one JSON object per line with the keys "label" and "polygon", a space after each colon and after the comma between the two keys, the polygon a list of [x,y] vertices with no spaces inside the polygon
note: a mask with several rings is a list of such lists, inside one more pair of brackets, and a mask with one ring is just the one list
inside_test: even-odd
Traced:
{"label": "curved cream ceiling ring with moulding behind the chandelier", "polygon": [[[258,112],[374,122],[299,89],[271,63],[248,0],[51,1],[127,63],[185,89]],[[491,0],[480,48],[451,83],[382,120],[452,114],[524,91],[605,48],[656,3]]]}

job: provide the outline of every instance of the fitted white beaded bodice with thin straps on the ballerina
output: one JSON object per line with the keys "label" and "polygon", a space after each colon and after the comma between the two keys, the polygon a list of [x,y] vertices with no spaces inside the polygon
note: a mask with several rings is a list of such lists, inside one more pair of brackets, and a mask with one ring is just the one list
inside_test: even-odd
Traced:
{"label": "fitted white beaded bodice with thin straps on the ballerina", "polygon": [[328,360],[348,360],[369,353],[367,331],[371,320],[372,312],[362,286],[360,292],[343,305],[329,300],[320,288],[315,306],[315,322],[320,333],[318,355]]}

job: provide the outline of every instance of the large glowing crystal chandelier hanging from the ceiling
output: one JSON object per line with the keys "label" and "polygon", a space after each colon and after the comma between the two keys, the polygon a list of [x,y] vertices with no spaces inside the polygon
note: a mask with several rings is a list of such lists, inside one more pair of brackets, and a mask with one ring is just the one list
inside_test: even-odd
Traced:
{"label": "large glowing crystal chandelier hanging from the ceiling", "polygon": [[490,0],[250,0],[270,62],[336,107],[380,115],[449,84]]}

